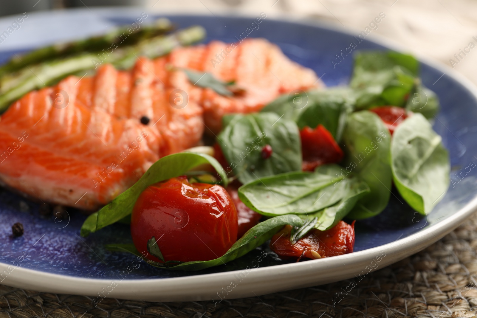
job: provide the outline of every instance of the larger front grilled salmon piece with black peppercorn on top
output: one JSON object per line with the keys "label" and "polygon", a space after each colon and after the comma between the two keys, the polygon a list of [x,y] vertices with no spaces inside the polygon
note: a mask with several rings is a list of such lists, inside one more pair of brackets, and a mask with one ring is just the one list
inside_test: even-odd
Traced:
{"label": "larger front grilled salmon piece with black peppercorn on top", "polygon": [[[179,87],[184,108],[168,99]],[[185,73],[145,58],[129,72],[104,65],[94,77],[30,92],[1,116],[0,179],[42,201],[94,210],[159,157],[197,144],[204,125],[194,96],[200,89]]]}

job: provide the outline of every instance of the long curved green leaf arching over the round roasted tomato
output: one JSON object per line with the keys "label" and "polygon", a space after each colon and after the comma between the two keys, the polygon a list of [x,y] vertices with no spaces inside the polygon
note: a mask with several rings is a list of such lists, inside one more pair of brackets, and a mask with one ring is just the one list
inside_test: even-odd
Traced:
{"label": "long curved green leaf arching over the round roasted tomato", "polygon": [[96,232],[104,226],[111,225],[130,215],[137,198],[148,185],[185,174],[187,171],[202,164],[211,164],[218,172],[224,186],[227,186],[227,174],[213,157],[207,154],[190,152],[170,154],[151,165],[133,186],[118,195],[111,203],[88,216],[81,227],[81,235],[88,236],[90,233]]}

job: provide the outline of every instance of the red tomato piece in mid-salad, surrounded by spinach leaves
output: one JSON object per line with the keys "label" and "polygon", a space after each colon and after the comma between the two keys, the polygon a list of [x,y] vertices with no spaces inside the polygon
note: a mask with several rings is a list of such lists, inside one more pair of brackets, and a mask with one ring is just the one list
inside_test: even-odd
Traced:
{"label": "red tomato piece in mid-salad, surrounded by spinach leaves", "polygon": [[315,129],[308,126],[303,128],[300,137],[303,171],[313,171],[319,165],[338,163],[342,160],[343,151],[323,125],[318,125]]}

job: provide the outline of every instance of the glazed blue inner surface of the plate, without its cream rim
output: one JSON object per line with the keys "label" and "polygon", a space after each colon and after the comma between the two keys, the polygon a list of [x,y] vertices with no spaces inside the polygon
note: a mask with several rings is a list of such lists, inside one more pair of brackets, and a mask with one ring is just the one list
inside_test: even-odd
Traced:
{"label": "glazed blue inner surface of the plate, without its cream rim", "polygon": [[[137,10],[136,10],[137,11]],[[138,11],[140,12],[140,10]],[[14,53],[23,52],[55,40],[75,39],[92,33],[101,33],[114,25],[130,24],[138,14],[127,10],[97,10],[94,17],[88,10],[62,13],[58,20],[46,14],[33,15],[23,22],[22,28],[0,43],[0,61],[7,61]],[[158,16],[152,14],[146,21]],[[214,16],[167,16],[180,28],[202,25],[207,30],[204,42],[220,40],[238,41],[238,37],[253,22],[254,18]],[[13,17],[0,20],[0,31],[6,29]],[[98,21],[99,20],[99,21]],[[31,25],[28,23],[31,21]],[[82,23],[82,21],[86,21]],[[88,22],[89,21],[89,22]],[[34,23],[33,23],[34,22]],[[101,23],[100,23],[101,22]],[[58,24],[60,23],[60,25]],[[33,26],[34,24],[34,26]],[[78,30],[78,25],[82,29]],[[45,36],[38,36],[44,29]],[[56,33],[48,33],[48,30]],[[35,33],[36,32],[36,33]],[[276,21],[267,18],[259,24],[259,29],[249,37],[263,37],[280,46],[293,61],[313,69],[327,86],[347,84],[353,64],[353,54],[359,50],[387,50],[373,41],[358,41],[353,35],[333,31],[327,27]],[[30,41],[31,40],[31,41]],[[336,54],[355,43],[351,54]],[[5,44],[7,43],[7,44]],[[28,43],[33,43],[28,47]],[[4,45],[5,44],[5,45]],[[251,56],[250,58],[254,58]],[[334,61],[334,62],[332,62]],[[337,62],[340,62],[337,64]],[[443,74],[444,73],[444,74]],[[429,226],[446,220],[474,199],[477,193],[477,101],[474,94],[455,77],[438,70],[425,62],[421,64],[421,77],[425,86],[437,93],[442,109],[434,119],[434,129],[439,133],[449,150],[452,164],[452,184],[443,200],[427,217],[412,211],[397,194],[391,195],[387,209],[372,219],[356,223],[355,252],[382,246],[404,239],[425,230]],[[23,199],[7,190],[0,194],[0,263],[61,276],[93,279],[117,279],[125,268],[135,260],[135,256],[125,253],[111,253],[104,248],[109,243],[129,243],[129,227],[121,224],[109,226],[88,236],[80,237],[80,227],[86,218],[79,212],[70,212],[63,217],[42,217],[37,203]],[[12,237],[11,226],[21,222],[24,234]],[[151,279],[167,277],[187,277],[203,275],[247,267],[262,250],[269,253],[260,267],[274,267],[286,262],[278,259],[268,247],[256,251],[223,266],[199,272],[183,272],[141,266],[124,279]],[[27,257],[21,256],[28,255]]]}

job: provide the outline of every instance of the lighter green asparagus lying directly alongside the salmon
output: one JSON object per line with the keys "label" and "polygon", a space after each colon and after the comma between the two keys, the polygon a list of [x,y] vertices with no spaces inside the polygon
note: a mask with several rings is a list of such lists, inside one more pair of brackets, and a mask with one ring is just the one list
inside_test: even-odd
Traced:
{"label": "lighter green asparagus lying directly alongside the salmon", "polygon": [[[170,52],[180,45],[189,45],[205,36],[204,28],[193,26],[169,35],[139,41],[136,45],[117,48],[112,53],[82,53],[58,61],[44,62],[21,70],[10,82],[2,83],[0,89],[0,113],[8,109],[13,101],[27,92],[52,85],[70,74],[94,70],[102,63],[112,63],[118,69],[134,65],[139,56],[155,58]],[[101,53],[101,54],[100,54]]]}

